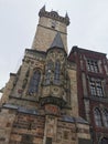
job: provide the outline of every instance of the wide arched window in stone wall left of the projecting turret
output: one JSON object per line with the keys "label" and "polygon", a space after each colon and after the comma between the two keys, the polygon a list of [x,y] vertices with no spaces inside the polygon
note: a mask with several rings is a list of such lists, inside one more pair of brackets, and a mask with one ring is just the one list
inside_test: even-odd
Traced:
{"label": "wide arched window in stone wall left of the projecting turret", "polygon": [[30,94],[37,92],[40,80],[41,80],[41,72],[40,72],[40,70],[36,70],[33,73],[33,76],[30,81],[30,85],[29,85],[29,93]]}

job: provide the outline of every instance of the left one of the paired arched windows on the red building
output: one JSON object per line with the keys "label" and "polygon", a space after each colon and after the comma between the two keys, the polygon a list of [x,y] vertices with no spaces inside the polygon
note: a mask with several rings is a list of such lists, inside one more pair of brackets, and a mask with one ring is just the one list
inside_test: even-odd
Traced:
{"label": "left one of the paired arched windows on the red building", "polygon": [[94,117],[95,117],[95,123],[97,126],[101,126],[101,114],[99,109],[95,109],[94,111]]}

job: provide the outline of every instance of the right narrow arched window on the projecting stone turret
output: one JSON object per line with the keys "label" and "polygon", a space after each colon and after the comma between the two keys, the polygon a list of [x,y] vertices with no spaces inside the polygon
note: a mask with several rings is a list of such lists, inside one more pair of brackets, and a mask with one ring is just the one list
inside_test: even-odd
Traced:
{"label": "right narrow arched window on the projecting stone turret", "polygon": [[60,61],[55,62],[55,72],[54,72],[54,82],[58,83],[60,82],[60,72],[61,72],[61,63]]}

